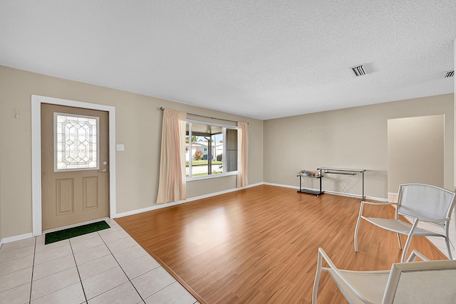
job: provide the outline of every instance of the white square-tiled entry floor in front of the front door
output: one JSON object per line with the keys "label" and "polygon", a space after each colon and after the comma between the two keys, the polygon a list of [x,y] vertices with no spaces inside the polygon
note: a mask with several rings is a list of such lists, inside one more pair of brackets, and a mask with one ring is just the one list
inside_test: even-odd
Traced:
{"label": "white square-tiled entry floor in front of the front door", "polygon": [[115,221],[110,229],[44,245],[0,248],[0,303],[179,303],[197,300]]}

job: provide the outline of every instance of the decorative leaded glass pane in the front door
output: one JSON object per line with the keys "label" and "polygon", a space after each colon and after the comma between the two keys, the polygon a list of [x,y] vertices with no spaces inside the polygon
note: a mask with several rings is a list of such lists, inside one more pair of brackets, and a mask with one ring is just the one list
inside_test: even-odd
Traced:
{"label": "decorative leaded glass pane in the front door", "polygon": [[54,112],[54,172],[99,169],[98,117]]}

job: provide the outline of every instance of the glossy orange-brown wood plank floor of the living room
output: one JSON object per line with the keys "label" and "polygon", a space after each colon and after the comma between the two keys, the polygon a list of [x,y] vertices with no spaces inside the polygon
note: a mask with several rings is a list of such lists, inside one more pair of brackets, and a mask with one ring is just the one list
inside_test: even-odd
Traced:
{"label": "glossy orange-brown wood plank floor of the living room", "polygon": [[[262,185],[116,221],[202,303],[311,303],[318,247],[339,268],[390,269],[400,261],[397,236],[366,221],[355,253],[359,201]],[[394,210],[365,206],[364,214],[393,218]],[[445,258],[423,237],[413,249]],[[346,302],[328,278],[323,273],[318,303]]]}

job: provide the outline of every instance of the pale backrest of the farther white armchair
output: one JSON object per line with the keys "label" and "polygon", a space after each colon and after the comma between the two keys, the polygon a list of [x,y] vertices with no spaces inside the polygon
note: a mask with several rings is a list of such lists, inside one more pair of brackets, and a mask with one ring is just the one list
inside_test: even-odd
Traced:
{"label": "pale backrest of the farther white armchair", "polygon": [[[401,184],[398,214],[423,219],[450,218],[455,207],[455,193],[427,184]],[[443,223],[440,224],[443,226]]]}

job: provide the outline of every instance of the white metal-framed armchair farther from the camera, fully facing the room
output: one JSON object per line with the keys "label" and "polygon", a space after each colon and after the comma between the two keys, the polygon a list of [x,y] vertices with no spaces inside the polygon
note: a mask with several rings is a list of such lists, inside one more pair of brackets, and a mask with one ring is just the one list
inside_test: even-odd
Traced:
{"label": "white metal-framed armchair farther from the camera, fully facing the room", "polygon": [[[363,216],[365,204],[375,206],[396,205],[395,219],[381,219]],[[455,193],[446,189],[426,184],[402,184],[399,187],[397,203],[373,203],[361,201],[358,221],[355,228],[355,251],[358,251],[358,229],[361,219],[365,219],[371,224],[380,228],[393,231],[398,234],[399,248],[402,249],[400,234],[408,236],[403,249],[401,262],[405,261],[405,256],[412,241],[413,236],[442,236],[447,244],[448,256],[452,259],[450,248],[450,219],[452,210],[455,206]],[[399,216],[410,216],[413,224],[399,219]],[[426,222],[443,229],[442,233],[418,228],[420,222]]]}

